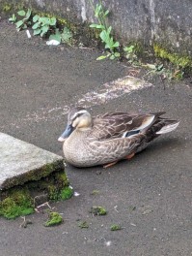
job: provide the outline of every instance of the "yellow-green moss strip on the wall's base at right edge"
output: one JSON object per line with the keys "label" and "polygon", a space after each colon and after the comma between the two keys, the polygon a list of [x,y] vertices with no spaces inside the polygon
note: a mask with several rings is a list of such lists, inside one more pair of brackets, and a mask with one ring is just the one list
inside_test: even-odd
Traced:
{"label": "yellow-green moss strip on the wall's base at right edge", "polygon": [[157,44],[153,45],[153,49],[157,57],[167,59],[171,63],[175,64],[177,67],[181,67],[183,69],[192,67],[192,59],[189,56],[181,56],[178,53],[171,53],[167,49],[162,48]]}

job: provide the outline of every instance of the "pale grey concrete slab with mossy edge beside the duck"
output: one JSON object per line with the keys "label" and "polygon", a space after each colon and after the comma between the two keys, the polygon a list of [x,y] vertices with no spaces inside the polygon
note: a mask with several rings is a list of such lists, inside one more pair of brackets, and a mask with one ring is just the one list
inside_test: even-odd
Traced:
{"label": "pale grey concrete slab with mossy edge beside the duck", "polygon": [[0,133],[0,190],[61,170],[61,156]]}

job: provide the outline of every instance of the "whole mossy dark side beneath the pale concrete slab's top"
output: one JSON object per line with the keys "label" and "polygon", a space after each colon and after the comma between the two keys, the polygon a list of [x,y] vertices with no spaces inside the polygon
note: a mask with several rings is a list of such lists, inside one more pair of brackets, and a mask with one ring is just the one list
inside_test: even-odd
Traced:
{"label": "whole mossy dark side beneath the pale concrete slab's top", "polygon": [[29,181],[22,186],[0,192],[0,216],[14,219],[33,213],[37,194],[47,195],[51,201],[60,201],[69,199],[73,191],[64,171],[52,173],[40,180]]}

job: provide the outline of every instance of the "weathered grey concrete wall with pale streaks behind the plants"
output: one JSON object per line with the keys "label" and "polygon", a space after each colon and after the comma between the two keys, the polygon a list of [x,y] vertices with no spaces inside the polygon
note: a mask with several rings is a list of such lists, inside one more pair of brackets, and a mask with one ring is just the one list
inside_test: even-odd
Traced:
{"label": "weathered grey concrete wall with pale streaks behind the plants", "polygon": [[[72,22],[91,22],[94,13],[89,0],[0,0],[22,2],[43,12],[67,17]],[[94,0],[96,3],[97,1]],[[191,0],[102,0],[110,10],[109,23],[124,44],[154,42],[182,55],[192,57]]]}

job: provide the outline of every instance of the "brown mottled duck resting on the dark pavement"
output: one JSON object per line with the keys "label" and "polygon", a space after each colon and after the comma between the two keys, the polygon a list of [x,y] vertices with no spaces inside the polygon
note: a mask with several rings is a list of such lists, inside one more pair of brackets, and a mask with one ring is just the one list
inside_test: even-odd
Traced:
{"label": "brown mottled duck resting on the dark pavement", "polygon": [[172,132],[179,121],[165,112],[107,112],[93,117],[82,107],[69,110],[68,123],[58,141],[65,160],[78,168],[108,168],[131,159],[160,135]]}

